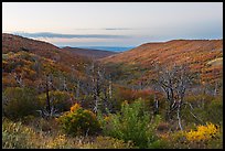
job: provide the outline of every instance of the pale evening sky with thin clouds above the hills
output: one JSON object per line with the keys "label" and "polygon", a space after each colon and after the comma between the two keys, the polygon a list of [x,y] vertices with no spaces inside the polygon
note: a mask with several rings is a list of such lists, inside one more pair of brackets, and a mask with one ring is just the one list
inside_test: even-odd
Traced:
{"label": "pale evening sky with thin clouds above the hills", "polygon": [[57,46],[223,39],[223,2],[2,2],[2,32]]}

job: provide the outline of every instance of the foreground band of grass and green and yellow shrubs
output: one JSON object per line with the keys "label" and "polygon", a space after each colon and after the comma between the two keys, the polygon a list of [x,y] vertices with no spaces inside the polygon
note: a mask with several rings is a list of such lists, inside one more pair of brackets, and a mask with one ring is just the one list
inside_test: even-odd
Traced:
{"label": "foreground band of grass and green and yellow shrubs", "polygon": [[[222,110],[222,101],[218,105],[214,101],[207,106],[212,110]],[[124,101],[117,114],[95,115],[75,104],[58,118],[25,116],[19,121],[3,118],[2,148],[223,148],[223,122],[219,120],[223,112],[217,112],[212,119],[202,112],[200,117],[204,125],[188,122],[183,131],[176,125],[168,123],[162,115],[150,115],[146,101],[137,99],[131,104]],[[183,120],[189,121],[189,118],[186,116]]]}

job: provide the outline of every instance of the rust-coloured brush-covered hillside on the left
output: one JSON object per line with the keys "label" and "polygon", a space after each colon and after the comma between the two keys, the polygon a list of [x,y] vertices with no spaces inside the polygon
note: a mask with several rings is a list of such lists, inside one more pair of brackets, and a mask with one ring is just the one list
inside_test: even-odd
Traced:
{"label": "rust-coloured brush-covered hillside on the left", "polygon": [[[62,51],[42,41],[12,34],[2,34],[2,80],[3,87],[22,85],[36,87],[45,75],[69,87],[72,77],[86,77],[85,67],[89,60]],[[60,82],[61,80],[61,82]],[[55,84],[57,85],[57,84]]]}

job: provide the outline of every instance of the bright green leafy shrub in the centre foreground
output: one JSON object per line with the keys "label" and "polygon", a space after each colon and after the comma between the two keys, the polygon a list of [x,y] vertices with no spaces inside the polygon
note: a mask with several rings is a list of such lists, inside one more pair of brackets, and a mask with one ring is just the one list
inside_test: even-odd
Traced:
{"label": "bright green leafy shrub in the centre foreground", "polygon": [[149,143],[156,141],[156,128],[159,117],[151,123],[149,112],[144,111],[144,105],[141,99],[133,104],[125,101],[121,105],[121,111],[116,115],[109,115],[101,119],[103,131],[125,141],[133,141],[139,148],[148,148]]}

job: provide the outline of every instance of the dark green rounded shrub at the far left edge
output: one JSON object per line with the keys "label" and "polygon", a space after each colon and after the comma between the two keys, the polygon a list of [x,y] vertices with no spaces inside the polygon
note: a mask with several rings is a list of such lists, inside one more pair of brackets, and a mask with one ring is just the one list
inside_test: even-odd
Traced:
{"label": "dark green rounded shrub at the far left edge", "polygon": [[40,109],[36,91],[30,88],[8,87],[3,93],[3,116],[10,119],[35,115]]}

